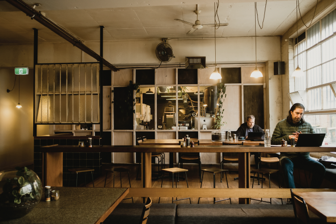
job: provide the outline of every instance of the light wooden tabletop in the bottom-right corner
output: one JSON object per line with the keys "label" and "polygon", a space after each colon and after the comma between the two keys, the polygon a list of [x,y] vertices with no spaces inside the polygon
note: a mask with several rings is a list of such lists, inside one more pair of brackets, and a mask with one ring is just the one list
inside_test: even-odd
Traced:
{"label": "light wooden tabletop in the bottom-right corner", "polygon": [[[299,189],[297,189],[299,190]],[[295,192],[310,211],[327,223],[336,223],[336,192]]]}

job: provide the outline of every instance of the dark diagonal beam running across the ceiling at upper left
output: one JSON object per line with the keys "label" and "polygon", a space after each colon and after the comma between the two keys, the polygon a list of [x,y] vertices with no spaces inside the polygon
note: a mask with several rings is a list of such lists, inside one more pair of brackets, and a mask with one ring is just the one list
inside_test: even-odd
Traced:
{"label": "dark diagonal beam running across the ceiling at upper left", "polygon": [[[86,54],[92,56],[97,61],[101,61],[104,65],[106,65],[108,68],[110,68],[112,71],[116,72],[118,69],[114,67],[110,62],[105,60],[103,57],[99,56],[97,53],[95,53],[93,50],[91,50],[89,47],[87,47],[85,44],[82,43],[82,40],[75,37],[68,31],[64,30],[62,27],[60,27],[58,24],[53,22],[52,20],[46,18],[45,16],[41,15],[40,12],[30,7],[28,4],[23,2],[22,0],[6,0],[11,5],[15,6],[22,12],[24,12],[27,16],[31,17],[32,19],[35,19],[37,22],[41,23],[54,33],[56,33],[58,36],[63,37],[65,40],[69,41],[71,44],[73,44],[75,47],[79,48]],[[98,32],[97,27],[97,32]]]}

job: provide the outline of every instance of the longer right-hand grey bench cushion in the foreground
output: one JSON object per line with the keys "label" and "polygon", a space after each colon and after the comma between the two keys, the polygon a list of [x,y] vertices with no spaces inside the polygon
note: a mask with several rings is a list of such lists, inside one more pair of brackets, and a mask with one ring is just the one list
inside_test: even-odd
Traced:
{"label": "longer right-hand grey bench cushion in the foreground", "polygon": [[[311,223],[321,220],[312,212]],[[176,224],[296,224],[293,205],[180,204]],[[323,223],[323,222],[322,222]]]}

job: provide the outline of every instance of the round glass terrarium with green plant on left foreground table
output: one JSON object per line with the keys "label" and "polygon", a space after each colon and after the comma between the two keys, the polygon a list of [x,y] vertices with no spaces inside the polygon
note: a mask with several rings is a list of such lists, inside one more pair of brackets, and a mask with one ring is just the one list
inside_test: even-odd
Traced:
{"label": "round glass terrarium with green plant on left foreground table", "polygon": [[42,184],[26,167],[0,171],[0,217],[16,219],[28,214],[40,201]]}

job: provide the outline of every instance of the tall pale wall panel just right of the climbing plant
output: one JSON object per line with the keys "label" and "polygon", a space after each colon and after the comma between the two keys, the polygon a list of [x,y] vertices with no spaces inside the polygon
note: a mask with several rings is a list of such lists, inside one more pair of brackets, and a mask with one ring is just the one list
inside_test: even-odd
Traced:
{"label": "tall pale wall panel just right of the climbing plant", "polygon": [[223,103],[224,130],[237,130],[242,124],[242,86],[226,86],[226,98]]}

